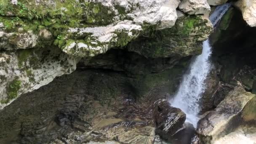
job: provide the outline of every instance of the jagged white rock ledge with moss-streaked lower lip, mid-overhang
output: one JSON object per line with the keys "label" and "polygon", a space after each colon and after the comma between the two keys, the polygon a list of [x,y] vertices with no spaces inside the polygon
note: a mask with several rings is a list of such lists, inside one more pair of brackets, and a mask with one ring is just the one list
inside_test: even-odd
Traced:
{"label": "jagged white rock ledge with moss-streaked lower lip, mid-overhang", "polygon": [[[88,43],[72,42],[63,49],[65,53],[75,56],[95,56],[105,53],[111,48],[111,43],[117,42],[117,32],[122,32],[129,39],[136,37],[134,31],[141,31],[141,26],[133,24],[133,21],[121,21],[117,24],[110,24],[106,27],[86,27],[86,28],[70,28],[69,32],[77,33],[77,35],[92,34],[92,39]],[[133,32],[132,32],[133,31]],[[98,46],[99,45],[99,46]]]}

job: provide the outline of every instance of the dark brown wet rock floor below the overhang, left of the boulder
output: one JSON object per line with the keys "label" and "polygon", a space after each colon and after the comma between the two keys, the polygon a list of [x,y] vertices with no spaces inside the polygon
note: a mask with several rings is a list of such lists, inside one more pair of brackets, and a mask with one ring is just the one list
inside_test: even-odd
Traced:
{"label": "dark brown wet rock floor below the overhang, left of the boulder", "polygon": [[93,69],[58,77],[0,112],[0,143],[153,144],[157,136],[152,105],[181,75],[174,69],[159,82],[159,74],[137,79]]}

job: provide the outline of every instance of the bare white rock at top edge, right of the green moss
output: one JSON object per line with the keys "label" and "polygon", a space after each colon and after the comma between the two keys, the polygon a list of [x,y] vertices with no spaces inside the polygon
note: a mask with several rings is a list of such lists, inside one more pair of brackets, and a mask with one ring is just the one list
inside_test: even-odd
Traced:
{"label": "bare white rock at top edge, right of the green moss", "polygon": [[157,24],[162,21],[159,28],[173,27],[177,19],[176,8],[180,0],[85,0],[101,2],[103,5],[115,10],[115,5],[125,8],[127,16],[133,18],[135,24]]}

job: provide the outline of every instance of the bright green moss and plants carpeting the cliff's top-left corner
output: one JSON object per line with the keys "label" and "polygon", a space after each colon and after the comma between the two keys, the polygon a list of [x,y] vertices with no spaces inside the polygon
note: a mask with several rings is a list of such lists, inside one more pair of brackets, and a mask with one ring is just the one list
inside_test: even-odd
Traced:
{"label": "bright green moss and plants carpeting the cliff's top-left corner", "polygon": [[[18,32],[22,28],[24,32],[32,30],[39,34],[41,29],[47,29],[53,34],[52,38],[57,41],[55,44],[59,48],[66,44],[69,27],[107,25],[116,16],[115,11],[101,3],[73,0],[19,0],[16,5],[9,0],[1,0],[0,9],[0,21],[5,32]],[[53,41],[47,41],[48,45]],[[39,39],[38,43],[37,46],[45,46],[42,45],[44,39]]]}

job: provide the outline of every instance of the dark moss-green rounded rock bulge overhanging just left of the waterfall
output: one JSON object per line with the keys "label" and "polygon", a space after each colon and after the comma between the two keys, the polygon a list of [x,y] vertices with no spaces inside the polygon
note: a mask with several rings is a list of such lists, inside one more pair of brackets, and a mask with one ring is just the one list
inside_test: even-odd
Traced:
{"label": "dark moss-green rounded rock bulge overhanging just left of the waterfall", "polygon": [[202,16],[183,16],[177,19],[174,27],[156,30],[155,26],[146,25],[147,37],[139,37],[128,45],[129,51],[136,51],[144,56],[181,57],[198,55],[202,51],[201,42],[206,40],[213,28]]}

